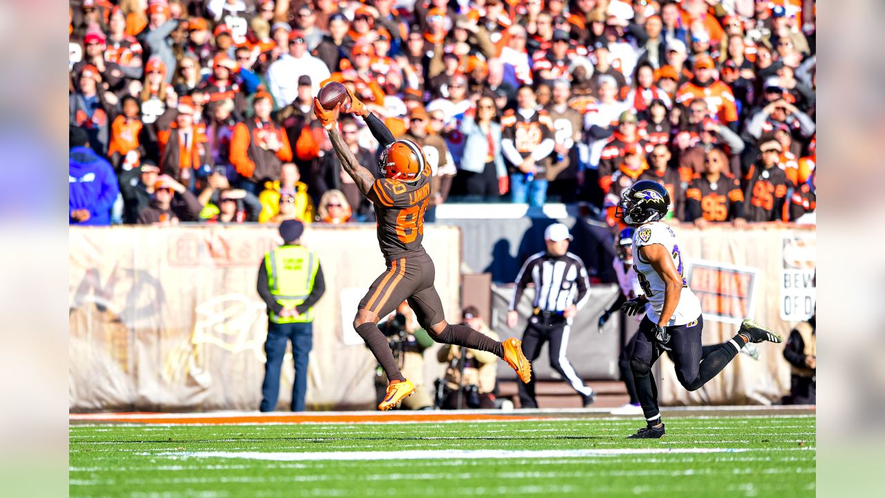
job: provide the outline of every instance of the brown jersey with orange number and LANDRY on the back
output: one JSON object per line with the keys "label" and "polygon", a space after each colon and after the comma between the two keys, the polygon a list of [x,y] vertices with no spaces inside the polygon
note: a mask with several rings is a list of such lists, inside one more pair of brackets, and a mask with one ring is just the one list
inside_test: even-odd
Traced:
{"label": "brown jersey with orange number and LANDRY on the back", "polygon": [[430,176],[430,166],[425,162],[418,180],[408,183],[380,178],[366,194],[375,205],[378,243],[386,259],[423,251],[421,241],[424,239],[424,210],[430,199]]}

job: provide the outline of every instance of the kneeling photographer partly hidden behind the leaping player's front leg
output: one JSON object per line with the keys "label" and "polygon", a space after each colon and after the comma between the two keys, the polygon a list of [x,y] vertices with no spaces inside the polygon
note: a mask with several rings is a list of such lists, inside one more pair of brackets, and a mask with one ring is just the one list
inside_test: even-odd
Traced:
{"label": "kneeling photographer partly hidden behind the leaping player's front leg", "polygon": [[[396,307],[396,313],[378,323],[378,328],[388,338],[393,356],[399,363],[399,370],[415,384],[415,393],[403,400],[400,409],[434,409],[430,390],[424,383],[424,351],[435,343],[418,324],[412,307],[403,301]],[[387,385],[388,379],[379,365],[375,376],[375,391],[379,402],[384,399]]]}

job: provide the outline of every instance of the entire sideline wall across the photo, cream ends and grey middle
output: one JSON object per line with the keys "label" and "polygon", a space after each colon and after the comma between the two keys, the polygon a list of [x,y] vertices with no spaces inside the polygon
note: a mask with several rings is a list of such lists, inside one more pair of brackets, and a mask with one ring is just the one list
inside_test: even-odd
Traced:
{"label": "entire sideline wall across the photo, cream ends and grey middle", "polygon": [[[553,221],[448,222],[461,228],[428,224],[425,246],[435,261],[446,316],[457,322],[462,230],[465,260],[490,253],[478,248],[495,247],[505,239],[515,240],[513,246],[525,249],[527,256],[540,250],[543,228]],[[611,246],[605,232],[581,220],[566,223],[577,224],[573,252],[595,258],[596,268],[611,268],[612,253],[591,250]],[[689,257],[689,284],[704,305],[704,344],[733,337],[744,315],[786,338],[813,308],[813,229],[754,225],[750,230],[674,230]],[[278,243],[275,227],[258,225],[71,228],[71,411],[256,409],[264,377],[266,315],[255,279],[262,255]],[[384,269],[374,226],[313,225],[305,231],[304,244],[320,254],[327,281],[327,294],[316,307],[308,407],[371,409],[375,362],[350,320],[366,287]],[[517,258],[509,253],[505,258],[508,268],[516,268],[513,276],[521,263]],[[503,270],[500,275],[504,282],[513,277]],[[490,324],[502,338],[522,333],[522,324],[515,331],[504,324],[502,307],[510,292],[506,287],[493,291]],[[617,341],[596,334],[596,317],[613,291],[602,285],[593,292],[593,302],[573,327],[569,358],[582,377],[612,378],[617,375],[612,372]],[[614,320],[607,334],[616,333]],[[694,393],[679,385],[665,357],[658,375],[660,400],[668,405],[778,401],[789,392],[783,346],[758,346],[758,362],[741,354]],[[432,389],[443,367],[433,360],[433,351],[427,358],[430,385],[425,388]],[[539,375],[547,375],[545,362],[537,364]],[[291,395],[289,358],[283,371],[281,409],[288,407]],[[502,378],[512,377],[506,368],[499,372]]]}

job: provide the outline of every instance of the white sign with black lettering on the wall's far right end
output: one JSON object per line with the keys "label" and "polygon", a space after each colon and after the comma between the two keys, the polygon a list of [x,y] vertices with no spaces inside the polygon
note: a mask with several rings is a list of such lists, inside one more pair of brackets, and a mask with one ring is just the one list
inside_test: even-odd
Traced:
{"label": "white sign with black lettering on the wall's far right end", "polygon": [[781,320],[804,322],[817,303],[817,240],[814,233],[783,237]]}

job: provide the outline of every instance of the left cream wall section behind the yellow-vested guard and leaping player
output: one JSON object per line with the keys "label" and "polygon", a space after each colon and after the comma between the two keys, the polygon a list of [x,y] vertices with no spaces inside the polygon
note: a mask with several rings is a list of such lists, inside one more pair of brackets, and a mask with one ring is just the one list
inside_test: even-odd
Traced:
{"label": "left cream wall section behind the yellow-vested guard and leaping player", "polygon": [[[258,409],[267,329],[256,278],[281,242],[275,226],[69,233],[72,412]],[[315,307],[308,407],[372,409],[375,361],[350,323],[385,269],[375,227],[311,225],[303,242],[319,254],[327,285]],[[427,225],[424,245],[446,315],[459,318],[459,230]],[[292,369],[287,354],[280,409],[289,407]]]}

